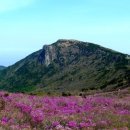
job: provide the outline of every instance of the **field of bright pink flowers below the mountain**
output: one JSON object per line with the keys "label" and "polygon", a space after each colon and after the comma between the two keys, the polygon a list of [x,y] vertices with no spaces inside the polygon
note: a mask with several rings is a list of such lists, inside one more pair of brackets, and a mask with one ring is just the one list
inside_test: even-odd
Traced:
{"label": "field of bright pink flowers below the mountain", "polygon": [[130,96],[39,97],[0,92],[1,130],[129,130]]}

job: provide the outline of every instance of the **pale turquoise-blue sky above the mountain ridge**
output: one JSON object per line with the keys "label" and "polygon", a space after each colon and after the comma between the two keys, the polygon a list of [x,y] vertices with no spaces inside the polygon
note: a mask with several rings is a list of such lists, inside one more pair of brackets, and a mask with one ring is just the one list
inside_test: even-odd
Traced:
{"label": "pale turquoise-blue sky above the mountain ridge", "polygon": [[130,54],[130,0],[0,0],[0,65],[58,39]]}

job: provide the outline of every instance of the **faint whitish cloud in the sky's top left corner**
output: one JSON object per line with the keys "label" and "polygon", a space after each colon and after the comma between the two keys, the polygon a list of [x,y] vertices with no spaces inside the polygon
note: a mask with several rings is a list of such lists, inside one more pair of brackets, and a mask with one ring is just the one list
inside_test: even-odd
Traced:
{"label": "faint whitish cloud in the sky's top left corner", "polygon": [[7,12],[26,7],[35,0],[0,0],[0,12]]}

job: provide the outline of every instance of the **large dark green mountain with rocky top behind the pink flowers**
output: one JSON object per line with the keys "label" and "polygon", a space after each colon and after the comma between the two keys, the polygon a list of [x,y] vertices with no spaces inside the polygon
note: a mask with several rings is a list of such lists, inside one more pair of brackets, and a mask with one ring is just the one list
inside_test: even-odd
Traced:
{"label": "large dark green mountain with rocky top behind the pink flowers", "polygon": [[0,89],[22,92],[104,91],[128,87],[130,56],[61,39],[0,72]]}

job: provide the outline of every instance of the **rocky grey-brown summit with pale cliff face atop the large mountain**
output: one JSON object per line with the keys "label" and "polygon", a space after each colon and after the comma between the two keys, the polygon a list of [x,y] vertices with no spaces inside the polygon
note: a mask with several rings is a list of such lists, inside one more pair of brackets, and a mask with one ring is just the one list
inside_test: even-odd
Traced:
{"label": "rocky grey-brown summit with pale cliff face atop the large mountain", "polygon": [[[90,45],[90,46],[89,46]],[[60,65],[72,62],[79,56],[87,56],[92,53],[95,45],[78,40],[59,39],[51,45],[44,45],[39,55],[39,61],[48,66],[56,60]]]}

